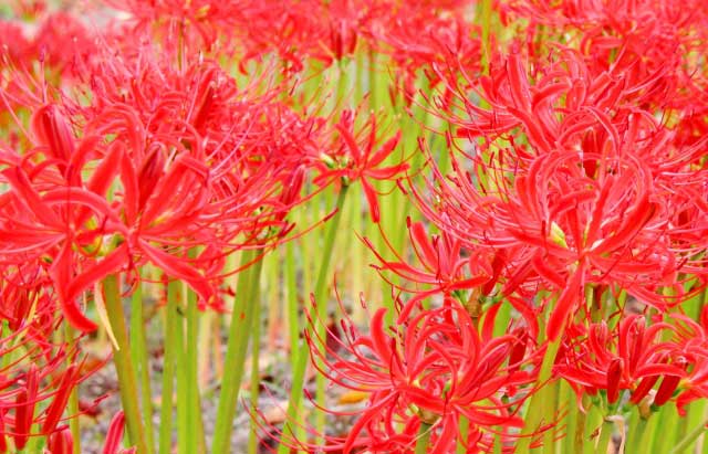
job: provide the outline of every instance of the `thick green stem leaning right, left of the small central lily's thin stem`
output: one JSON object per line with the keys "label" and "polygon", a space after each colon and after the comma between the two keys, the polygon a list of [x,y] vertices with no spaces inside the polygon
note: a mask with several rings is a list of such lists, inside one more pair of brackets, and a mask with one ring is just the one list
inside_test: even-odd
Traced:
{"label": "thick green stem leaning right, left of the small central lily's thin stem", "polygon": [[[247,265],[260,251],[249,250],[243,252],[241,264]],[[233,416],[238,405],[243,369],[246,367],[246,353],[248,341],[253,325],[256,309],[260,298],[260,275],[263,266],[262,258],[250,265],[239,274],[238,300],[235,302],[231,312],[231,325],[229,326],[229,340],[227,344],[226,359],[223,363],[223,378],[217,409],[217,420],[214,432],[214,454],[228,454],[231,452],[230,441],[233,427]],[[258,339],[254,339],[258,341]]]}

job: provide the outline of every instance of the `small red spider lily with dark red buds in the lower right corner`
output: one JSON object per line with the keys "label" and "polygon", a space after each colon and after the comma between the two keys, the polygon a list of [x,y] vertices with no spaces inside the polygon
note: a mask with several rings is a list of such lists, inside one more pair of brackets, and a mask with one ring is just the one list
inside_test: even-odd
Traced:
{"label": "small red spider lily with dark red buds in the lower right corner", "polygon": [[604,390],[608,403],[617,402],[624,390],[629,390],[631,401],[638,403],[664,377],[655,395],[655,403],[664,404],[676,384],[669,390],[668,383],[686,376],[685,359],[676,344],[662,340],[673,330],[666,323],[646,326],[638,315],[623,318],[612,331],[605,321],[587,328],[576,325],[571,328],[573,336],[564,344],[554,373],[575,389],[579,399],[584,392]]}

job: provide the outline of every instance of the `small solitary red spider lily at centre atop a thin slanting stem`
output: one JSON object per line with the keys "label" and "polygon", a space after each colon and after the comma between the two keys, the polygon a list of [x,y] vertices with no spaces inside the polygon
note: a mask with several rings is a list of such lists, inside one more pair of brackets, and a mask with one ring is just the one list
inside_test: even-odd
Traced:
{"label": "small solitary red spider lily at centre atop a thin slanting stem", "polygon": [[392,180],[408,169],[406,162],[384,166],[384,161],[389,158],[398,145],[400,131],[374,150],[374,147],[381,140],[377,137],[376,117],[374,115],[363,128],[355,131],[354,113],[344,110],[335,128],[337,133],[335,148],[323,156],[323,159],[317,163],[320,173],[314,181],[321,186],[330,181],[334,181],[335,184],[350,184],[357,180],[361,181],[372,220],[377,223],[381,219],[378,200],[376,190],[369,180]]}

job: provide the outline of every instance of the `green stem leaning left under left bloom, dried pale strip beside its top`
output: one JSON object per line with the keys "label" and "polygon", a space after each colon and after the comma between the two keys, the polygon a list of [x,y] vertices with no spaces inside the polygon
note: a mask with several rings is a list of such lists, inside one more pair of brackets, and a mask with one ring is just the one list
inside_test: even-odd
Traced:
{"label": "green stem leaning left under left bloom, dried pale strip beside its top", "polygon": [[118,287],[117,274],[110,275],[103,279],[105,293],[106,313],[116,344],[113,345],[113,362],[118,376],[118,387],[121,389],[121,402],[127,424],[131,443],[137,448],[137,454],[149,453],[145,432],[143,430],[143,419],[138,405],[137,380],[135,369],[131,360],[131,346],[128,342],[125,314],[123,313],[123,302],[121,300],[121,289]]}

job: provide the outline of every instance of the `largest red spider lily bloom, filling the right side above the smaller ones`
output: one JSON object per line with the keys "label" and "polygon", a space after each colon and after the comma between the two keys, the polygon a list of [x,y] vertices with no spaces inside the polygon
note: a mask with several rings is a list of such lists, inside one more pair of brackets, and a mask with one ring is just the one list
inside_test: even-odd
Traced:
{"label": "largest red spider lily bloom, filling the right side above the smaller ones", "polygon": [[[576,78],[559,81],[563,74],[587,76],[583,63],[570,53],[564,65],[552,65],[531,86],[512,55],[504,71],[483,80],[492,108],[466,103],[472,117],[460,120],[460,134],[489,139],[512,134],[511,145],[487,149],[489,157],[470,157],[480,178],[456,158],[452,179],[435,173],[435,201],[427,196],[420,201],[428,218],[469,247],[521,247],[516,268],[532,270],[556,288],[548,325],[552,337],[574,313],[586,283],[618,284],[663,307],[667,300],[656,286],[674,285],[681,293],[676,273],[700,272],[694,257],[704,247],[680,237],[695,239],[696,231],[674,235],[668,230],[675,215],[669,207],[679,200],[699,203],[689,194],[705,191],[702,172],[695,168],[699,147],[667,149],[671,133],[648,113],[620,107],[614,117],[605,114],[624,92],[601,95],[600,87],[607,85],[600,77],[579,91]],[[528,146],[517,145],[521,140]]]}

